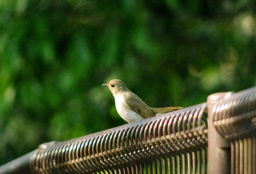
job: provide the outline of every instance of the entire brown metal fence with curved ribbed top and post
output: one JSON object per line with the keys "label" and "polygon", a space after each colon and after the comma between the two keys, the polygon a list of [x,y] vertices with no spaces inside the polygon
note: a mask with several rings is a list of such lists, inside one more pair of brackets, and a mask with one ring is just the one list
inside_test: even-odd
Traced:
{"label": "entire brown metal fence with curved ribbed top and post", "polygon": [[256,173],[256,87],[67,142],[0,173]]}

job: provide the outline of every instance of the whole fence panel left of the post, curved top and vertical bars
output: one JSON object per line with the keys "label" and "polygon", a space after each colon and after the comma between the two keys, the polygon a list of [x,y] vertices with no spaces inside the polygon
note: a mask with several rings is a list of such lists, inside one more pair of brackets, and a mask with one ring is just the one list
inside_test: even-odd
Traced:
{"label": "whole fence panel left of the post, curved top and vertical bars", "polygon": [[207,103],[67,142],[33,155],[33,173],[206,173]]}

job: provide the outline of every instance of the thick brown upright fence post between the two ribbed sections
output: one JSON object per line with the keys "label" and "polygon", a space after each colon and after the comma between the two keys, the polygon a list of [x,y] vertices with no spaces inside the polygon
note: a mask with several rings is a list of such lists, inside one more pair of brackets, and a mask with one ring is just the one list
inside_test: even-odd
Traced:
{"label": "thick brown upright fence post between the two ribbed sections", "polygon": [[207,97],[208,106],[208,174],[230,173],[230,142],[218,134],[213,125],[213,108],[229,93],[216,93]]}

